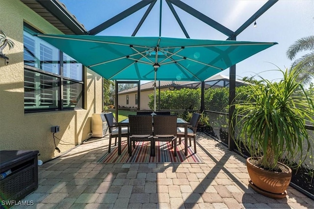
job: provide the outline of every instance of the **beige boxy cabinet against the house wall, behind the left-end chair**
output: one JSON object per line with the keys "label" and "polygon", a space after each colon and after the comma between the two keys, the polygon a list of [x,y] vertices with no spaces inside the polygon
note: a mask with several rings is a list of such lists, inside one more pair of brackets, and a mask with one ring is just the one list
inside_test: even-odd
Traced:
{"label": "beige boxy cabinet against the house wall, behind the left-end chair", "polygon": [[93,137],[104,137],[107,135],[108,125],[105,113],[95,113],[92,115],[92,134]]}

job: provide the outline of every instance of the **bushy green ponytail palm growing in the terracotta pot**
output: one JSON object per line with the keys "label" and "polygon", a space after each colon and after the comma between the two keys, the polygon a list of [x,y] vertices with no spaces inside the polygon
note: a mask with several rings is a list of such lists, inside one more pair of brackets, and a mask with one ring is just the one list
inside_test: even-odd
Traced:
{"label": "bushy green ponytail palm growing in the terracotta pot", "polygon": [[258,167],[280,171],[282,159],[299,166],[312,155],[305,124],[313,122],[314,105],[298,80],[300,67],[279,70],[283,74],[279,82],[261,77],[261,84],[250,84],[245,96],[236,98],[235,142],[238,148],[243,144],[251,157],[261,157]]}

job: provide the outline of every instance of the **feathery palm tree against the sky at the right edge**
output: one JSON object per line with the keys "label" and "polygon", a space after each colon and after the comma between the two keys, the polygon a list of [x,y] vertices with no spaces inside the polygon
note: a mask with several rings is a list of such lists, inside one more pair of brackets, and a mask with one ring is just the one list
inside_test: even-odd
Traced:
{"label": "feathery palm tree against the sky at the right edge", "polygon": [[299,80],[303,80],[303,84],[309,84],[314,78],[314,36],[308,36],[298,39],[291,46],[289,46],[286,55],[288,59],[293,60],[300,51],[308,51],[309,53],[303,55],[301,58],[296,59],[292,67],[301,64],[302,72],[299,75]]}

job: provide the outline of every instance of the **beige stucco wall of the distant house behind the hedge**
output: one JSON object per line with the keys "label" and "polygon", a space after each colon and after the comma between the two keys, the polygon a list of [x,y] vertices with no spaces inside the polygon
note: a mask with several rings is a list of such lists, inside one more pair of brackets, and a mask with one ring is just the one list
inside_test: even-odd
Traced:
{"label": "beige stucco wall of the distant house behind the hedge", "polygon": [[[167,90],[169,90],[169,89],[168,88],[160,89],[160,91],[167,91]],[[135,94],[136,93],[132,92],[132,93],[119,94],[118,95],[119,105],[125,106],[125,107],[136,107],[137,108],[137,105],[135,105]],[[148,95],[151,93],[154,93],[154,90],[141,91],[141,105],[140,105],[141,110],[150,110],[150,108],[148,106],[150,98],[148,97]],[[127,95],[129,95],[129,104],[128,105],[127,105]]]}

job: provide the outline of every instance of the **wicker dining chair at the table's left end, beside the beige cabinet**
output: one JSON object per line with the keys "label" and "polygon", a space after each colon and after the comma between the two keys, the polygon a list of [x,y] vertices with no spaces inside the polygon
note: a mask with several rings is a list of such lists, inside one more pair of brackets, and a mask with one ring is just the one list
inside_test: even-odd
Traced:
{"label": "wicker dining chair at the table's left end, beside the beige cabinet", "polygon": [[[109,147],[108,147],[108,153],[111,152],[111,139],[112,137],[115,138],[114,145],[117,145],[117,137],[119,137],[119,128],[117,126],[116,119],[113,116],[113,113],[105,113],[105,118],[108,124],[109,129]],[[129,141],[129,127],[124,126],[121,127],[121,137],[127,137]]]}

